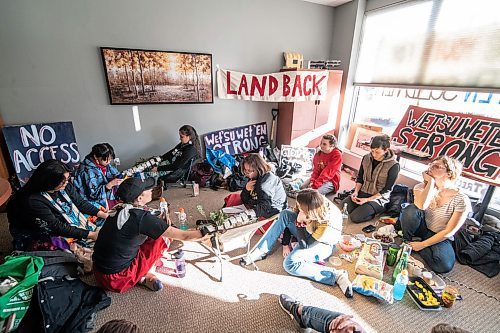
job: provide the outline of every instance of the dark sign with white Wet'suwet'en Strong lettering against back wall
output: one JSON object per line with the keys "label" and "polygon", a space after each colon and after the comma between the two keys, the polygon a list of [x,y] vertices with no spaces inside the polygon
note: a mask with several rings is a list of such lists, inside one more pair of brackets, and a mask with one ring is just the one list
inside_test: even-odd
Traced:
{"label": "dark sign with white Wet'suwet'en Strong lettering against back wall", "polygon": [[235,155],[267,146],[265,122],[236,128],[228,128],[205,134],[205,148],[220,149]]}

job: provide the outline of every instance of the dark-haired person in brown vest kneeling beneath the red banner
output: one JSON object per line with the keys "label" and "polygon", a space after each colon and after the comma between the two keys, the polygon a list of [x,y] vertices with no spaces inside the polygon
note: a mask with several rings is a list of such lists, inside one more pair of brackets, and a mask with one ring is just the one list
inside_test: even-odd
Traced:
{"label": "dark-haired person in brown vest kneeling beneath the red banner", "polygon": [[373,219],[389,202],[399,174],[399,163],[390,146],[388,135],[375,136],[370,143],[370,153],[361,160],[354,192],[342,203],[347,204],[349,217],[354,223]]}

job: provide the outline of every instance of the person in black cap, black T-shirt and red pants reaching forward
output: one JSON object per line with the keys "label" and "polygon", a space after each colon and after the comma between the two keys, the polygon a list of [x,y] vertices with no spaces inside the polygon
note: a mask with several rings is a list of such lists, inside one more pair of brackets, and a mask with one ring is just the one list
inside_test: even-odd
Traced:
{"label": "person in black cap, black T-shirt and red pants reaching forward", "polygon": [[127,178],[118,187],[123,203],[109,212],[92,255],[94,275],[106,290],[123,293],[136,284],[159,291],[162,282],[148,271],[168,248],[170,238],[202,240],[200,230],[171,227],[167,214],[151,214],[153,178]]}

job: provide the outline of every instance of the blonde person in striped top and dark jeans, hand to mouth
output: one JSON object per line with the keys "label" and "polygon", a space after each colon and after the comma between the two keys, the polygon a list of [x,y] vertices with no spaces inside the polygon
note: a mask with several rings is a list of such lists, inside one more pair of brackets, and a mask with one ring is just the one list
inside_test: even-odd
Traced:
{"label": "blonde person in striped top and dark jeans, hand to mouth", "polygon": [[[401,211],[403,238],[437,273],[447,273],[455,264],[453,235],[472,211],[469,197],[457,186],[462,165],[440,156],[422,173],[424,181],[413,189],[415,202]],[[414,241],[418,237],[421,240]]]}

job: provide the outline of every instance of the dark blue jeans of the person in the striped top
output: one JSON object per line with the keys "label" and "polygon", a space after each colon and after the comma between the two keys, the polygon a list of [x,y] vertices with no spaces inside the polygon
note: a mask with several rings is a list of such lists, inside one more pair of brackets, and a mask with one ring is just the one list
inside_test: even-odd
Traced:
{"label": "dark blue jeans of the person in the striped top", "polygon": [[[424,211],[414,204],[407,205],[399,216],[403,239],[410,242],[414,236],[428,239],[436,233],[427,229]],[[448,273],[455,265],[455,251],[451,240],[445,239],[418,252],[427,265],[436,273]]]}

